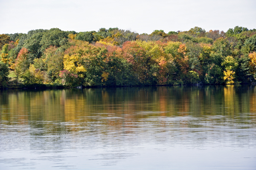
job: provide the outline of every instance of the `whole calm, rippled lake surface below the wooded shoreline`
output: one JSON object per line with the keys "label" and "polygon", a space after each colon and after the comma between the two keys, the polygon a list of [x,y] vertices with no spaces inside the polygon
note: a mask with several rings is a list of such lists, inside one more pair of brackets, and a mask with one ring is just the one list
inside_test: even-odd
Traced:
{"label": "whole calm, rippled lake surface below the wooded shoreline", "polygon": [[256,86],[0,91],[0,170],[256,170]]}

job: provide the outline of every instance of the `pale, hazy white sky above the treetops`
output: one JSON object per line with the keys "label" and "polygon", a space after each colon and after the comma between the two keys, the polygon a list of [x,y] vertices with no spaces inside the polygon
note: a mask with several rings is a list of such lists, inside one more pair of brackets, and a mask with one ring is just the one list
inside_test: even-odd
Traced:
{"label": "pale, hazy white sky above the treetops", "polygon": [[156,29],[256,29],[256,0],[0,0],[0,34],[33,29],[150,34]]}

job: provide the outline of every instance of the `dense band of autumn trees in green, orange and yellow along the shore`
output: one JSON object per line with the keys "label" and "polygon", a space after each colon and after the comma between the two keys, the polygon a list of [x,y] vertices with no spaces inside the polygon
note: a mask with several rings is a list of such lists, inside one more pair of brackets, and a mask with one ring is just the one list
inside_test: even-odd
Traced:
{"label": "dense band of autumn trees in green, orange and yellow along the shore", "polygon": [[0,35],[0,88],[248,84],[256,29],[138,34],[36,29]]}

